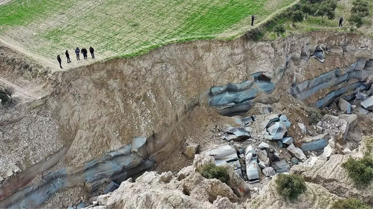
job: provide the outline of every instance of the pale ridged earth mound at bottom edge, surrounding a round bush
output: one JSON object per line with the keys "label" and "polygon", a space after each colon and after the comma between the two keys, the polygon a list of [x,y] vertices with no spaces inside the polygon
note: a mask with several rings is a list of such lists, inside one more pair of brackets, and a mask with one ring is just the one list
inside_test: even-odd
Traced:
{"label": "pale ridged earth mound at bottom edge, surrounding a round bush", "polygon": [[295,202],[286,201],[276,192],[275,178],[259,193],[259,196],[247,200],[246,208],[253,209],[329,209],[335,200],[340,199],[328,192],[324,187],[308,183],[307,191]]}

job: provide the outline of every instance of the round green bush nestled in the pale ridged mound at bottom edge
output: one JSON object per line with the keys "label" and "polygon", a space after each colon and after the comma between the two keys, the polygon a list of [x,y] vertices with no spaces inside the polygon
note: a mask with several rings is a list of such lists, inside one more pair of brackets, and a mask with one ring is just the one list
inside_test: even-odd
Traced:
{"label": "round green bush nestled in the pale ridged mound at bottom edge", "polygon": [[307,190],[307,185],[300,175],[279,174],[276,178],[276,191],[285,199],[295,200]]}

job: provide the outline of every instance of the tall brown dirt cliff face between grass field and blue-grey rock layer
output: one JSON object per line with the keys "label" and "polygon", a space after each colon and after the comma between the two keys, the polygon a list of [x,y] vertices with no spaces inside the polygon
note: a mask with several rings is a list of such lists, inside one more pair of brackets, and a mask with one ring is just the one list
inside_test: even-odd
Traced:
{"label": "tall brown dirt cliff face between grass field and blue-grey rock layer", "polygon": [[[326,49],[323,64],[313,58],[291,59],[316,45]],[[294,75],[301,82],[350,65],[355,52],[372,46],[372,40],[362,36],[325,32],[272,42],[195,41],[53,74],[40,66],[26,66],[27,61],[2,47],[0,83],[13,88],[18,102],[0,109],[0,151],[6,156],[0,160],[0,174],[5,177],[15,166],[26,170],[64,147],[68,149],[63,149],[56,168],[81,165],[135,136],[150,136],[167,127],[172,132],[173,121],[191,100],[212,86],[250,80],[257,72],[270,74],[276,84],[270,96],[279,98]],[[168,155],[178,151],[186,138],[209,137],[196,133],[215,116],[204,108],[194,111],[192,115],[206,118],[189,117],[182,123],[186,126],[176,126],[165,148]]]}

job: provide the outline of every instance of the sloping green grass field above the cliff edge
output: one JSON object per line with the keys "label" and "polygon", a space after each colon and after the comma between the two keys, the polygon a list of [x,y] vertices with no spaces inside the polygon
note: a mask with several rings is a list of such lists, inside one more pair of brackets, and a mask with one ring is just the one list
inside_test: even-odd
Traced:
{"label": "sloping green grass field above the cliff edge", "polygon": [[172,42],[231,39],[297,0],[12,0],[0,6],[0,38],[54,60],[93,46],[100,59]]}

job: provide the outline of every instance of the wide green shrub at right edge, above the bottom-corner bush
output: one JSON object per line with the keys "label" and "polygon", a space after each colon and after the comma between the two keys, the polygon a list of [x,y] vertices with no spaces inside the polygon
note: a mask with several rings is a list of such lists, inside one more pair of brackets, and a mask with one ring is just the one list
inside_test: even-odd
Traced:
{"label": "wide green shrub at right edge, above the bottom-corner bush", "polygon": [[342,167],[355,184],[364,186],[370,184],[373,180],[373,159],[370,157],[366,156],[357,160],[348,158],[342,164]]}

